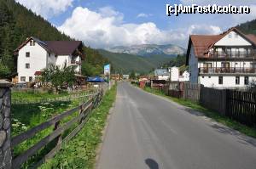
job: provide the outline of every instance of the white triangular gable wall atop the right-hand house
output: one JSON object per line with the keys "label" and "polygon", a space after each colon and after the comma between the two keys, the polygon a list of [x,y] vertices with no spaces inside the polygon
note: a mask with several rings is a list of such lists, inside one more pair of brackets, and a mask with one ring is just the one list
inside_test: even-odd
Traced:
{"label": "white triangular gable wall atop the right-hand house", "polygon": [[[237,36],[236,36],[237,35]],[[235,31],[230,31],[228,35],[220,39],[215,43],[215,46],[251,46],[250,42],[247,42],[243,37],[236,34]]]}

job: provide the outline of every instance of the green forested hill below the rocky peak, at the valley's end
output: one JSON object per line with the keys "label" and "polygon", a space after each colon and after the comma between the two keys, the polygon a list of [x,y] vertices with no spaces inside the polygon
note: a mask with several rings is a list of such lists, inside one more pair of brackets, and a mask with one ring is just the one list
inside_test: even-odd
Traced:
{"label": "green forested hill below the rocky peak, at the valley's end", "polygon": [[139,73],[148,73],[150,70],[168,63],[176,55],[166,55],[166,54],[151,54],[148,57],[135,55],[135,54],[125,54],[125,53],[112,53],[107,50],[98,50],[103,57],[110,60],[113,65],[114,71],[116,73],[127,74],[132,70]]}

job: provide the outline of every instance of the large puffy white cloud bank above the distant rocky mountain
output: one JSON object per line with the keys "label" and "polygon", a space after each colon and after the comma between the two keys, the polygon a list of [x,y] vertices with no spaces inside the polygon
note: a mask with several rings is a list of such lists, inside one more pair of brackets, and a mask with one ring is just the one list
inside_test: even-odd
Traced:
{"label": "large puffy white cloud bank above the distant rocky mountain", "polygon": [[58,29],[71,37],[83,40],[85,45],[93,48],[146,43],[175,43],[185,47],[189,34],[220,32],[220,28],[214,25],[191,25],[187,29],[160,30],[153,22],[124,23],[123,14],[113,8],[92,11],[82,7],[75,8],[72,16]]}

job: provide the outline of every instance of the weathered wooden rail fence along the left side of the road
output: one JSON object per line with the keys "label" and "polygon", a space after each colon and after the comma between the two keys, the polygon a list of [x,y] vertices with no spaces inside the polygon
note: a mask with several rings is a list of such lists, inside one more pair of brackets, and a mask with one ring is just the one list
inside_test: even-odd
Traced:
{"label": "weathered wooden rail fence along the left side of the road", "polygon": [[[44,137],[37,144],[32,145],[31,148],[27,149],[22,154],[13,158],[12,168],[19,168],[24,162],[26,162],[32,155],[36,155],[38,150],[43,149],[47,144],[52,143],[53,140],[56,140],[55,148],[51,149],[44,158],[39,161],[35,167],[40,166],[44,161],[53,157],[56,152],[61,149],[61,144],[66,143],[68,140],[73,138],[88,120],[88,115],[90,115],[90,111],[96,107],[97,104],[100,103],[102,99],[103,91],[96,93],[95,97],[91,98],[84,104],[80,104],[78,107],[73,108],[72,110],[67,110],[61,115],[56,115],[49,121],[45,121],[44,123],[38,125],[37,127],[33,127],[32,129],[23,132],[14,138],[11,139],[11,148],[14,149],[15,146],[23,143],[24,141],[34,137],[38,132],[42,132],[44,129],[49,127],[54,127],[53,132],[49,133],[48,136]],[[61,124],[61,120],[66,118],[67,116],[74,115],[79,111],[79,115],[73,117],[72,120],[67,121],[64,124]],[[78,124],[78,126],[73,129],[65,138],[62,138],[63,133],[73,127],[73,125]]]}

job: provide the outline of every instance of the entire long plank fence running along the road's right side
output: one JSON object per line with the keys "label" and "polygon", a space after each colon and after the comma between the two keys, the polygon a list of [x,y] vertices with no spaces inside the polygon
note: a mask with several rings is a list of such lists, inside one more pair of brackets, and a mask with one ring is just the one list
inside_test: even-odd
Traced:
{"label": "entire long plank fence running along the road's right side", "polygon": [[199,102],[207,109],[256,127],[256,93],[203,87],[189,82],[171,82],[161,91],[168,96]]}

